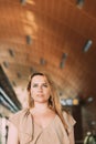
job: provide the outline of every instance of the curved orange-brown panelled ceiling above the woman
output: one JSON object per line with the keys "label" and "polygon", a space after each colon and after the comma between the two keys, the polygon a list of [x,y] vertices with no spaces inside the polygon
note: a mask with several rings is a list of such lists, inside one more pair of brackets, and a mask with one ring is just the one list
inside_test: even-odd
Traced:
{"label": "curved orange-brown panelled ceiling above the woman", "polygon": [[96,97],[95,9],[96,0],[0,0],[0,64],[21,102],[34,71],[50,74],[61,97]]}

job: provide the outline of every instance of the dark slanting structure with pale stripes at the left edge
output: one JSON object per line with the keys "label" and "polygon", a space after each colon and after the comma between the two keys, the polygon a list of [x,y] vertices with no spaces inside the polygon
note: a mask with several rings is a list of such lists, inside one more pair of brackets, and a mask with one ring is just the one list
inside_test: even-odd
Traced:
{"label": "dark slanting structure with pale stripes at the left edge", "polygon": [[0,103],[10,109],[12,112],[21,110],[21,103],[0,65]]}

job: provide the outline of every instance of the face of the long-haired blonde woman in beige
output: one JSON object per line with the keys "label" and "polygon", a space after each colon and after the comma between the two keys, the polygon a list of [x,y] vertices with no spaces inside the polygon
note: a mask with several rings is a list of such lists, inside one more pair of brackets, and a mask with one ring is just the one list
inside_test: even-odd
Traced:
{"label": "face of the long-haired blonde woman in beige", "polygon": [[35,75],[31,81],[31,96],[34,102],[47,102],[51,95],[51,88],[44,75]]}

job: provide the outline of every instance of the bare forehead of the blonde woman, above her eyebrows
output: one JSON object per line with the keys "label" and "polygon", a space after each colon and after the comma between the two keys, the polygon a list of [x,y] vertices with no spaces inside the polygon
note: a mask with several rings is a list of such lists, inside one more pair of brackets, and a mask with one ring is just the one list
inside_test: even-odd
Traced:
{"label": "bare forehead of the blonde woman, above her eyebrows", "polygon": [[35,75],[31,80],[32,83],[40,83],[40,82],[45,82],[47,83],[47,79],[45,75]]}

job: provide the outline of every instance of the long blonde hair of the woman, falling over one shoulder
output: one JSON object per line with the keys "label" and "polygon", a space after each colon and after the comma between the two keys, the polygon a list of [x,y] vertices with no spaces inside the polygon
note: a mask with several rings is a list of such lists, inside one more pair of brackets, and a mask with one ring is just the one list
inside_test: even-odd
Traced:
{"label": "long blonde hair of the woman, falling over one shoulder", "polygon": [[28,97],[28,101],[29,101],[29,109],[33,107],[34,106],[34,102],[33,102],[33,99],[31,96],[31,81],[34,76],[36,75],[41,75],[41,76],[45,76],[47,79],[47,82],[51,86],[51,95],[50,95],[50,99],[49,99],[49,105],[50,107],[60,116],[66,132],[67,132],[67,125],[65,123],[65,120],[64,120],[64,116],[63,116],[63,113],[62,113],[62,106],[61,106],[61,103],[58,101],[58,95],[56,93],[56,90],[55,90],[55,85],[53,83],[53,81],[50,79],[50,76],[45,73],[41,73],[41,72],[36,72],[36,73],[33,73],[31,76],[30,76],[30,81],[28,83],[28,92],[29,92],[29,97]]}

